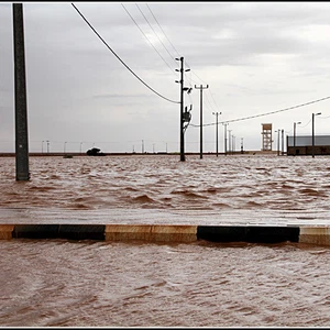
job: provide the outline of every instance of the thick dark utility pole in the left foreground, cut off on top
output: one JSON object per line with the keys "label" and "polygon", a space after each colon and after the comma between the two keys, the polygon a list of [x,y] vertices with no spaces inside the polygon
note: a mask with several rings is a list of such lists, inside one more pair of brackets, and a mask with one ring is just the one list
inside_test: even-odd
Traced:
{"label": "thick dark utility pole in the left foreground, cut off on top", "polygon": [[29,139],[25,84],[23,4],[13,3],[15,165],[16,180],[29,180]]}

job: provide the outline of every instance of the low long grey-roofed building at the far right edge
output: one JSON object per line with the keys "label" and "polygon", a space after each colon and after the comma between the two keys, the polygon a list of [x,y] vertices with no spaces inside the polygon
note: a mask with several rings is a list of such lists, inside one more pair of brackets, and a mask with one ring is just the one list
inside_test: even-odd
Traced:
{"label": "low long grey-roofed building at the far right edge", "polygon": [[[286,136],[286,150],[288,156],[312,155],[312,136]],[[314,154],[330,155],[330,135],[314,136]]]}

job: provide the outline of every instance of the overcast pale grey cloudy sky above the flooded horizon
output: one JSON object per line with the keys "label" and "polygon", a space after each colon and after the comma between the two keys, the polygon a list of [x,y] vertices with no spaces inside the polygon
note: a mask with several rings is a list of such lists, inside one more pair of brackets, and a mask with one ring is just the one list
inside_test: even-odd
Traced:
{"label": "overcast pale grey cloudy sky above the flooded horizon", "polygon": [[[221,112],[219,152],[224,122],[235,150],[241,143],[261,150],[262,123],[273,124],[274,150],[275,131],[293,135],[294,122],[301,122],[297,135],[310,135],[318,112],[316,134],[330,134],[330,2],[74,6],[23,2],[31,152],[45,152],[47,140],[51,152],[92,146],[141,152],[142,144],[146,152],[179,151],[179,56],[190,68],[185,86],[193,88],[185,92],[185,106],[193,105],[186,152],[200,148],[200,90],[195,87],[207,85],[205,152],[216,150],[213,112]],[[0,3],[0,152],[12,152],[12,2]]]}

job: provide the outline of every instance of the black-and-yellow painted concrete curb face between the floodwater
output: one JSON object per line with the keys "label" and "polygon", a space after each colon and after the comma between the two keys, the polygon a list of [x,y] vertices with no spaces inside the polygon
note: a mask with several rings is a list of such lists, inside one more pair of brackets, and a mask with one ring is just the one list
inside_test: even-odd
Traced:
{"label": "black-and-yellow painted concrete curb face between the floodwater", "polygon": [[330,245],[328,227],[180,224],[0,224],[0,240],[67,239],[147,242],[299,242]]}

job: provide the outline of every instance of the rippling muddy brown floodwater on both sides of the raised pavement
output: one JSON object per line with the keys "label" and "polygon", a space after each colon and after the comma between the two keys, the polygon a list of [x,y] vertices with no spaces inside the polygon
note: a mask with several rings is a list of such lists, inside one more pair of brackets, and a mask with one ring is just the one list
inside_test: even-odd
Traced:
{"label": "rippling muddy brown floodwater on both sides of the raised pavement", "polygon": [[[329,210],[329,157],[0,157],[1,208]],[[0,241],[0,327],[329,327],[330,248]]]}

